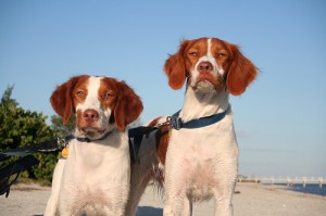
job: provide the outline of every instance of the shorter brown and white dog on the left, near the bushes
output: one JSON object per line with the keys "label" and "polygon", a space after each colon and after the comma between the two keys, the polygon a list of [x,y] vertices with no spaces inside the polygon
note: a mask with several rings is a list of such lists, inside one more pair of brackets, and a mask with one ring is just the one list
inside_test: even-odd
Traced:
{"label": "shorter brown and white dog on the left, near the bushes", "polygon": [[60,160],[46,208],[49,215],[125,215],[130,180],[126,126],[142,111],[139,97],[125,82],[77,76],[51,96],[66,124],[76,115],[75,139]]}

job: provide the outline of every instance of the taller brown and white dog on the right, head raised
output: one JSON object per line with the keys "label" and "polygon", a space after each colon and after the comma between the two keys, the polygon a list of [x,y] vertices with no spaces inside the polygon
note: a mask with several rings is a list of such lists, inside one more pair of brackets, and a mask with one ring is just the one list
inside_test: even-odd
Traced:
{"label": "taller brown and white dog on the right, head raised", "polygon": [[[156,170],[163,167],[164,216],[191,215],[193,201],[212,196],[215,198],[215,215],[230,216],[238,175],[238,144],[229,93],[243,93],[255,79],[258,68],[237,46],[217,38],[200,38],[183,41],[179,50],[166,60],[164,69],[171,88],[180,89],[187,84],[179,113],[183,123],[215,114],[225,116],[198,128],[177,130],[164,126],[143,139],[140,163],[133,169],[133,175],[138,175],[138,178],[131,177],[130,200],[134,204],[128,204],[127,214],[135,214],[143,187],[158,174],[150,169],[152,165]],[[156,118],[149,125],[165,119]],[[152,142],[159,142],[156,158]]]}

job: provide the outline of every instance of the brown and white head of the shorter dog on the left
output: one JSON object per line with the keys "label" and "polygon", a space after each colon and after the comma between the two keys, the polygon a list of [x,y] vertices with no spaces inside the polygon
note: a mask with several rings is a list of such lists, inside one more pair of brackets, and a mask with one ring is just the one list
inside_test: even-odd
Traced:
{"label": "brown and white head of the shorter dog on the left", "polygon": [[124,81],[96,76],[76,76],[57,87],[50,98],[65,125],[76,115],[76,134],[98,139],[117,127],[121,131],[136,120],[142,103]]}

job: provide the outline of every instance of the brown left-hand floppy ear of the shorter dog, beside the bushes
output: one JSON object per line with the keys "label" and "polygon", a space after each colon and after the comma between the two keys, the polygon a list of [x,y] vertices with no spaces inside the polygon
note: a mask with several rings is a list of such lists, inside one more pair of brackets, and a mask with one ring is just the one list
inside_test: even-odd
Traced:
{"label": "brown left-hand floppy ear of the shorter dog, beside the bushes", "polygon": [[58,86],[50,98],[51,105],[55,113],[62,117],[63,125],[67,124],[72,115],[72,92],[79,77],[73,77],[68,81]]}

